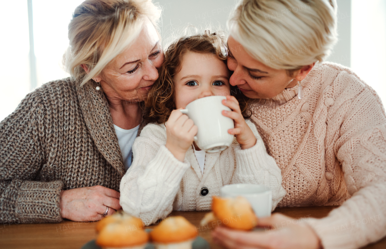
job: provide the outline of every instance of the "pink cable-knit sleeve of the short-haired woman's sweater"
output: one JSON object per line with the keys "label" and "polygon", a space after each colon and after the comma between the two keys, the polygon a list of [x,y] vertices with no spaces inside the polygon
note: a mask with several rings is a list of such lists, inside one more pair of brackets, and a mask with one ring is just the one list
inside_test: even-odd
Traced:
{"label": "pink cable-knit sleeve of the short-haired woman's sweater", "polygon": [[[324,249],[354,249],[386,235],[386,117],[375,91],[353,75],[335,100],[336,158],[351,198],[323,219],[310,219]],[[331,101],[330,101],[331,102]]]}

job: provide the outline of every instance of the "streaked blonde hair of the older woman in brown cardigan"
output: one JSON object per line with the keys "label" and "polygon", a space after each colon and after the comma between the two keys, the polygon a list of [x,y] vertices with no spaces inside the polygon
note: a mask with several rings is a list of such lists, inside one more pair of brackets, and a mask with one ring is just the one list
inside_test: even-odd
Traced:
{"label": "streaked blonde hair of the older woman in brown cardigan", "polygon": [[[68,25],[67,70],[85,84],[138,37],[146,18],[157,28],[161,9],[151,0],[86,0]],[[81,67],[85,64],[88,74]]]}

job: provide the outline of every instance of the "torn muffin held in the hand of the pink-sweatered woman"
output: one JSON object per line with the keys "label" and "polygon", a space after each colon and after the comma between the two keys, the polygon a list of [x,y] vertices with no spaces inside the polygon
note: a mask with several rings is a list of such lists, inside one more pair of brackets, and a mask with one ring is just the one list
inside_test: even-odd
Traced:
{"label": "torn muffin held in the hand of the pink-sweatered woman", "polygon": [[251,230],[257,225],[257,217],[245,197],[212,197],[212,212],[205,215],[200,225],[224,225],[238,230]]}

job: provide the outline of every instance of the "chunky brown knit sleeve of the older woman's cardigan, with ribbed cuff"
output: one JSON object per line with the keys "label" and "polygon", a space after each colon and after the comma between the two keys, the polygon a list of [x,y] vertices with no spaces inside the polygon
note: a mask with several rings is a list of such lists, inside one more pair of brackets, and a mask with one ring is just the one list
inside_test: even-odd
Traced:
{"label": "chunky brown knit sleeve of the older woman's cardigan, with ribbed cuff", "polygon": [[44,105],[28,94],[0,122],[0,222],[60,222],[63,182],[33,181],[44,164]]}

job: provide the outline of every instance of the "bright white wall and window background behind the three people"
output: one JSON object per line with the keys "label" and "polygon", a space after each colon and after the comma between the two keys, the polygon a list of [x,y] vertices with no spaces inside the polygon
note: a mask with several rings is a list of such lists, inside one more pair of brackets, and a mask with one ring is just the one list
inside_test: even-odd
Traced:
{"label": "bright white wall and window background behind the three people", "polygon": [[[67,77],[61,60],[68,46],[67,26],[82,0],[32,0],[37,85]],[[155,0],[157,2],[157,0]],[[188,24],[225,30],[235,0],[159,0],[165,40]],[[328,61],[349,66],[386,103],[386,1],[337,0],[339,42]],[[17,18],[15,5],[17,4]],[[27,1],[2,2],[0,15],[0,120],[30,91]],[[174,30],[179,30],[175,32]]]}

